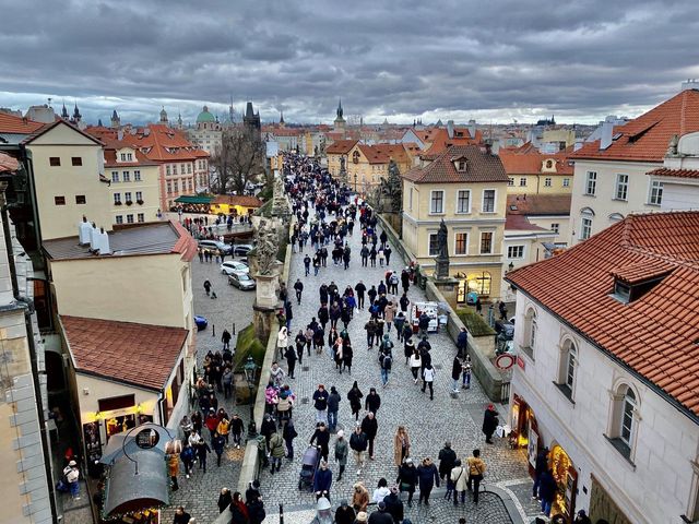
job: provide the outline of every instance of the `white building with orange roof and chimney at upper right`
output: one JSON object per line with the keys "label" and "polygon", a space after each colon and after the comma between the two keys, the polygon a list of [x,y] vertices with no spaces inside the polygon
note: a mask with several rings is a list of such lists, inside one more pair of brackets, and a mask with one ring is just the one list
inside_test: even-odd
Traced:
{"label": "white building with orange roof and chimney at upper right", "polygon": [[663,180],[647,174],[663,167],[674,135],[699,131],[699,83],[623,127],[603,122],[601,138],[570,156],[574,162],[570,241],[572,246],[624,219],[659,211]]}

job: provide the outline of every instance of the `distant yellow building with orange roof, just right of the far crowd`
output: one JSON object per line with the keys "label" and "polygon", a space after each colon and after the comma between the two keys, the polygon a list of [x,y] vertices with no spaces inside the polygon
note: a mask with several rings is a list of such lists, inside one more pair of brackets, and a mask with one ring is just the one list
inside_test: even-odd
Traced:
{"label": "distant yellow building with orange roof, just right of the far crowd", "polygon": [[347,153],[347,183],[355,191],[367,192],[378,186],[381,178],[387,178],[389,164],[393,159],[401,172],[407,172],[413,167],[412,157],[403,144],[356,143]]}

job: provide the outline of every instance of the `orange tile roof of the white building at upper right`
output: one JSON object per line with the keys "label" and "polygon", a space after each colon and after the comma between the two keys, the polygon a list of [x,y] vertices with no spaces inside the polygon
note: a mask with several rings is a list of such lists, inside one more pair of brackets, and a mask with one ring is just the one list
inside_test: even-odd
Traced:
{"label": "orange tile roof of the white building at upper right", "polygon": [[686,90],[614,129],[619,134],[606,150],[600,141],[589,142],[571,154],[571,158],[663,162],[670,139],[676,134],[699,131],[699,91]]}

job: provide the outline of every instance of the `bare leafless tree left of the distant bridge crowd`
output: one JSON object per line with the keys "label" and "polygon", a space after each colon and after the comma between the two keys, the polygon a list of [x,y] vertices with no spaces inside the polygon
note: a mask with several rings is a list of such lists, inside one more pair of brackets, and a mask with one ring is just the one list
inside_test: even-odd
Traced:
{"label": "bare leafless tree left of the distant bridge crowd", "polygon": [[226,129],[211,163],[216,170],[213,189],[218,194],[244,194],[249,181],[264,174],[264,143],[242,127]]}

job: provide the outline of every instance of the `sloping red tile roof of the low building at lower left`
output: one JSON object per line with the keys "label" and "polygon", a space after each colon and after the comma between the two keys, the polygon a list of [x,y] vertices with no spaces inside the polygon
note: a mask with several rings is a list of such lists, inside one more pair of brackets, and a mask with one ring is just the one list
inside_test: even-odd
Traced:
{"label": "sloping red tile roof of the low building at lower left", "polygon": [[165,325],[60,317],[75,370],[162,391],[188,331]]}

